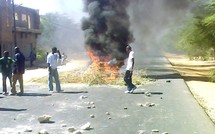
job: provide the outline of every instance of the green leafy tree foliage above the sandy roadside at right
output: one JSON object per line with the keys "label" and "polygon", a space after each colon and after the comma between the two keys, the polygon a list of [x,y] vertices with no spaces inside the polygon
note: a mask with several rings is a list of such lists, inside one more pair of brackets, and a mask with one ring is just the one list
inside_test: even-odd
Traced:
{"label": "green leafy tree foliage above the sandy roadside at right", "polygon": [[[180,29],[177,47],[191,60],[215,59],[215,0],[195,1],[185,25]],[[215,70],[210,80],[215,82]]]}

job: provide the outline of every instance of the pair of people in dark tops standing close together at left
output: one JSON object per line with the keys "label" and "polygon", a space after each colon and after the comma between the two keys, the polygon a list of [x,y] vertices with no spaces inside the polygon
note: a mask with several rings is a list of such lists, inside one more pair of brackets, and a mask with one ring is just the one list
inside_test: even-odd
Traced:
{"label": "pair of people in dark tops standing close together at left", "polygon": [[[9,79],[11,87],[11,95],[24,93],[23,74],[25,73],[25,56],[20,52],[18,47],[14,48],[14,59],[9,56],[8,51],[4,51],[3,57],[0,58],[3,94],[9,94],[7,90],[6,80]],[[20,92],[16,91],[16,83],[19,82]]]}

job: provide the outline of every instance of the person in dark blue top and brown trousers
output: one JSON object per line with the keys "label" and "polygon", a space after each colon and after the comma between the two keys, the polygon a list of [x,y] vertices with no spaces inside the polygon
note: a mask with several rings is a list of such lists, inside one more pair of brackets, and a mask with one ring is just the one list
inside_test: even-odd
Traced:
{"label": "person in dark blue top and brown trousers", "polygon": [[16,92],[16,82],[19,81],[20,92],[18,95],[23,95],[23,74],[25,73],[25,56],[21,53],[18,47],[15,47],[15,64],[13,69],[13,84],[11,89],[11,95],[15,95]]}

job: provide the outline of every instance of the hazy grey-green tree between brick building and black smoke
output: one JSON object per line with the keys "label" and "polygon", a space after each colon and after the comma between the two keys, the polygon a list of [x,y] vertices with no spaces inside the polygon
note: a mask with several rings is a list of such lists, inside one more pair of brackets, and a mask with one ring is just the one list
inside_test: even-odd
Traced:
{"label": "hazy grey-green tree between brick building and black smoke", "polygon": [[[48,13],[40,16],[42,34],[38,38],[38,51],[46,53],[56,46],[63,53],[84,50],[80,24],[66,14]],[[41,54],[42,55],[42,54]]]}

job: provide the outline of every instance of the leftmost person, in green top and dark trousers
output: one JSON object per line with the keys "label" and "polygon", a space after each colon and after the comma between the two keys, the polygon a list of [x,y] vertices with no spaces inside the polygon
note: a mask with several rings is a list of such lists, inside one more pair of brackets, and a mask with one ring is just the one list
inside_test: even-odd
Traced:
{"label": "leftmost person, in green top and dark trousers", "polygon": [[10,87],[12,88],[12,67],[11,64],[15,61],[9,57],[9,52],[4,51],[3,57],[0,59],[1,71],[2,71],[2,86],[3,86],[3,95],[7,95],[7,84],[6,80],[9,79]]}

